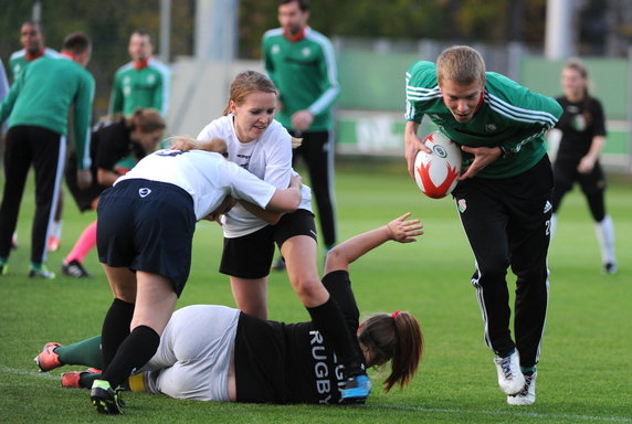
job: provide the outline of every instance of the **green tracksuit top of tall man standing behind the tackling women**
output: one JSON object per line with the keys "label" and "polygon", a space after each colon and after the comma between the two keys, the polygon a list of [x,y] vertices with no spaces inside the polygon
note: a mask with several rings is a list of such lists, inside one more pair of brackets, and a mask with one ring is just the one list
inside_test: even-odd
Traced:
{"label": "green tracksuit top of tall man standing behind the tackling women", "polygon": [[306,26],[303,36],[291,41],[277,28],[263,35],[263,57],[267,75],[281,93],[276,119],[292,128],[292,115],[302,109],[314,114],[309,131],[333,127],[331,106],[340,94],[336,56],[331,42]]}

